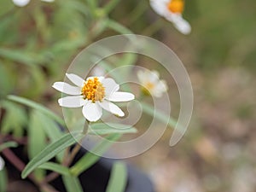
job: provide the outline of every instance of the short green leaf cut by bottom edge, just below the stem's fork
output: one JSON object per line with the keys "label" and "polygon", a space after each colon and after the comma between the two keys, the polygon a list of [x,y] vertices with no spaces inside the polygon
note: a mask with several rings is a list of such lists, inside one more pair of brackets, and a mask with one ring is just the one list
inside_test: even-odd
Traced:
{"label": "short green leaf cut by bottom edge, just below the stem's fork", "polygon": [[83,192],[82,186],[79,183],[78,177],[62,176],[63,183],[67,189],[67,192]]}

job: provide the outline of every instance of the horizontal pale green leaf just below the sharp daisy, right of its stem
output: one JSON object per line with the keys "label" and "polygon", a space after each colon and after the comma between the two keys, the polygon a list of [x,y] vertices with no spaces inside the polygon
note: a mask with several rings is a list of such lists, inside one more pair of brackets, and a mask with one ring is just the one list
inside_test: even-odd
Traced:
{"label": "horizontal pale green leaf just below the sharp daisy, right of its stem", "polygon": [[107,135],[111,133],[137,133],[137,129],[130,125],[113,124],[113,123],[96,123],[90,124],[88,134]]}

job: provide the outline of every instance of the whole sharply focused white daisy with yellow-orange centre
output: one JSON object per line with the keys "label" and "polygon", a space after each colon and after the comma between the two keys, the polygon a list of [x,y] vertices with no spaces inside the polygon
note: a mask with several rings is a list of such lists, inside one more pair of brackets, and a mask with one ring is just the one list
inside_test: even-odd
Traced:
{"label": "whole sharply focused white daisy with yellow-orange centre", "polygon": [[128,92],[120,92],[119,84],[113,79],[104,77],[90,77],[86,80],[76,74],[66,76],[76,86],[65,82],[55,82],[53,88],[71,96],[66,96],[58,100],[61,107],[80,108],[84,118],[89,121],[97,121],[102,117],[102,108],[119,117],[125,113],[112,102],[129,102],[134,99],[134,95]]}

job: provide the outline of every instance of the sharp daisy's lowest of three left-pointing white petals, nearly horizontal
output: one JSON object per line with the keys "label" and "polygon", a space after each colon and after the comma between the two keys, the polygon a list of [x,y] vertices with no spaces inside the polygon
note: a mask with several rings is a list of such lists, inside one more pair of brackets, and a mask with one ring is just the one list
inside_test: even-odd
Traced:
{"label": "sharp daisy's lowest of three left-pointing white petals, nearly horizontal", "polygon": [[88,101],[84,100],[83,96],[66,96],[58,100],[61,107],[65,108],[80,108]]}

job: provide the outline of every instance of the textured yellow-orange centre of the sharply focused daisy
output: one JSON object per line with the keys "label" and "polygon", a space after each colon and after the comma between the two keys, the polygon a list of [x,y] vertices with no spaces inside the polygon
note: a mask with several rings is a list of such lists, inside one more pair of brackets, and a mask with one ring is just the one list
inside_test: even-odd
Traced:
{"label": "textured yellow-orange centre of the sharply focused daisy", "polygon": [[88,79],[81,91],[84,99],[91,100],[92,102],[102,102],[105,96],[105,88],[98,78]]}

